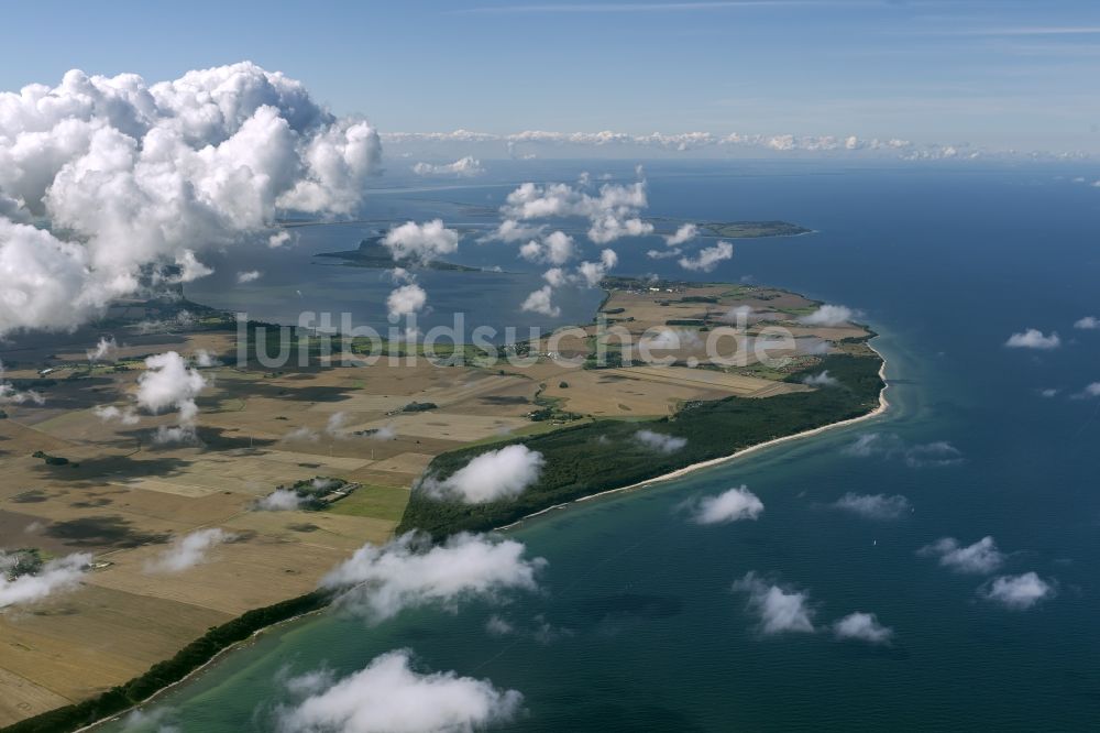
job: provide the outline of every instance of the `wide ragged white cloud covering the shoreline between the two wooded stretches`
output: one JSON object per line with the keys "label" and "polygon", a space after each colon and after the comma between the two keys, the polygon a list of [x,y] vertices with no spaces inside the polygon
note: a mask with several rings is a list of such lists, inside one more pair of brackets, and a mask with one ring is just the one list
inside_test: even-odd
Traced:
{"label": "wide ragged white cloud covering the shoreline between the two wooded stretches", "polygon": [[321,581],[339,591],[338,603],[371,621],[384,621],[408,608],[462,600],[495,599],[505,591],[534,591],[546,565],[527,559],[514,539],[461,533],[442,544],[408,533],[382,546],[366,544]]}

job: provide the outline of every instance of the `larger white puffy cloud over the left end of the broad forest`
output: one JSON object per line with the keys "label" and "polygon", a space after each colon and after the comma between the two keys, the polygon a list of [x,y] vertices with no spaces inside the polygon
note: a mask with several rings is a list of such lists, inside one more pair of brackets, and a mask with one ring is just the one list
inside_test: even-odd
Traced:
{"label": "larger white puffy cloud over the left end of the broad forest", "polygon": [[505,446],[474,457],[443,481],[431,478],[421,488],[435,496],[468,504],[513,499],[539,480],[546,459],[527,446]]}

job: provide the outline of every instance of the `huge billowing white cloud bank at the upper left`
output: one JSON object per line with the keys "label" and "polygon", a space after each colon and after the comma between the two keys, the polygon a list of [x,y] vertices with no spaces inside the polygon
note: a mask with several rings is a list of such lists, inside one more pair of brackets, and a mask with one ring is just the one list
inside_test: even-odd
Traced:
{"label": "huge billowing white cloud bank at the upper left", "polygon": [[349,212],[381,150],[370,124],[251,63],[2,92],[0,333],[78,326],[150,265],[209,272],[196,251],[271,234],[279,209]]}

